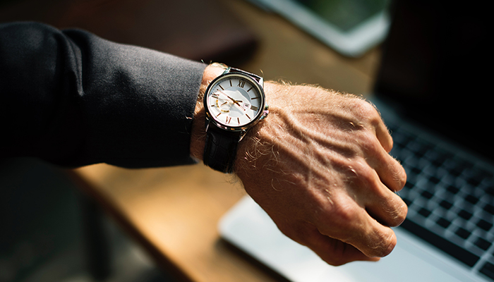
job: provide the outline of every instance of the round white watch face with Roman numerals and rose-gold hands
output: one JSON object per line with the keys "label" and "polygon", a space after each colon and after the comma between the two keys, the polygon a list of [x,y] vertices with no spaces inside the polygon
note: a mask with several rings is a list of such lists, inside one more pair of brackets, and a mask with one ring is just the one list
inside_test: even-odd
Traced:
{"label": "round white watch face with Roman numerals and rose-gold hands", "polygon": [[263,114],[264,92],[248,75],[229,73],[213,80],[205,94],[207,114],[228,129],[246,128]]}

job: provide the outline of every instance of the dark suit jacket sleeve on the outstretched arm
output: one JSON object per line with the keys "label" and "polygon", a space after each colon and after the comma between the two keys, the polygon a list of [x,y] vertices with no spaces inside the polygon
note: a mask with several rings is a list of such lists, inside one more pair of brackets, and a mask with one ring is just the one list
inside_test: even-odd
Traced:
{"label": "dark suit jacket sleeve on the outstretched arm", "polygon": [[205,64],[39,23],[0,25],[0,157],[189,164]]}

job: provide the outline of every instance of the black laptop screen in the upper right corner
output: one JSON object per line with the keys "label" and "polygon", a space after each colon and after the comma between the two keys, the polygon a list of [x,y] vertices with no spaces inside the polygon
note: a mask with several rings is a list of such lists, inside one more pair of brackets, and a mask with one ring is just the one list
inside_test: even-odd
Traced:
{"label": "black laptop screen in the upper right corner", "polygon": [[374,92],[400,114],[492,161],[492,32],[485,6],[394,1]]}

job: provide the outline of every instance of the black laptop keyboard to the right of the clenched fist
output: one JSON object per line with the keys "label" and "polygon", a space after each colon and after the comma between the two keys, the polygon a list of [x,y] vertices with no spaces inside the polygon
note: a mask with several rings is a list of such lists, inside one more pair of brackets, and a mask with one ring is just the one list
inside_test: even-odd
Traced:
{"label": "black laptop keyboard to the right of the clenched fist", "polygon": [[407,182],[402,227],[494,281],[494,171],[388,124]]}

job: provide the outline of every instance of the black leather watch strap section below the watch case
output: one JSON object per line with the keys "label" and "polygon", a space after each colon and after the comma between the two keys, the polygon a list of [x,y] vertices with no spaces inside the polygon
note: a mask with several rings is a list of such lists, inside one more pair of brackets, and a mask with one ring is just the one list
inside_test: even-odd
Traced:
{"label": "black leather watch strap section below the watch case", "polygon": [[216,171],[232,173],[241,132],[210,126],[207,129],[203,162]]}

